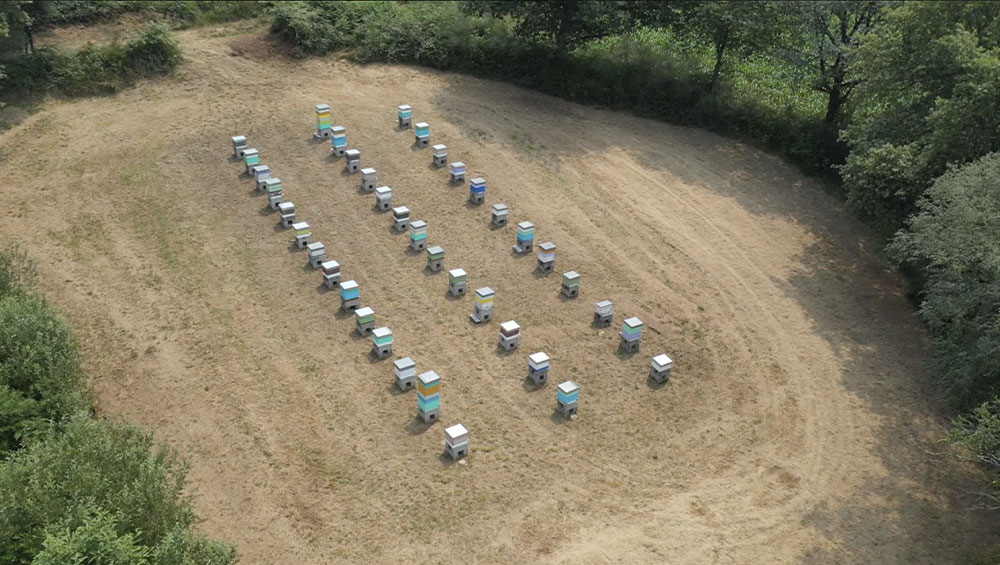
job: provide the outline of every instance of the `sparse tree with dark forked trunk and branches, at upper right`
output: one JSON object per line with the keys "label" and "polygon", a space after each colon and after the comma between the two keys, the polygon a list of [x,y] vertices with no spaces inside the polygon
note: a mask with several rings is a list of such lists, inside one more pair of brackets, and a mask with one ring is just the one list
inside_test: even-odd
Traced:
{"label": "sparse tree with dark forked trunk and branches, at upper right", "polygon": [[851,59],[883,5],[875,0],[796,2],[796,13],[810,40],[809,59],[816,65],[813,88],[827,95],[823,123],[838,122],[851,92],[861,83]]}

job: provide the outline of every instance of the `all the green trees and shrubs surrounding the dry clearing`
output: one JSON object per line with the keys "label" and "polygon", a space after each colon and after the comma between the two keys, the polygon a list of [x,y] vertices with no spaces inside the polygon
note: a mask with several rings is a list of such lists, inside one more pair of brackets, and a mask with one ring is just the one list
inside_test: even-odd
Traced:
{"label": "all the green trees and shrubs surrounding the dry clearing", "polygon": [[[167,25],[122,44],[25,53],[27,26],[130,11]],[[4,1],[0,101],[113,92],[180,64],[169,26],[241,17],[267,18],[300,56],[509,81],[738,137],[826,179],[910,280],[934,341],[929,374],[956,414],[951,439],[1000,473],[1000,2]],[[25,290],[21,255],[0,259],[0,539],[17,541],[0,558],[57,562],[105,544],[123,552],[114,562],[231,559],[187,532],[170,456],[130,428],[79,416],[87,401],[68,329]],[[84,494],[39,481],[70,456],[103,469],[114,451],[102,443],[135,461],[121,472],[153,485],[142,504],[157,505],[161,524],[130,522],[149,516],[103,494],[56,513],[56,497]]]}

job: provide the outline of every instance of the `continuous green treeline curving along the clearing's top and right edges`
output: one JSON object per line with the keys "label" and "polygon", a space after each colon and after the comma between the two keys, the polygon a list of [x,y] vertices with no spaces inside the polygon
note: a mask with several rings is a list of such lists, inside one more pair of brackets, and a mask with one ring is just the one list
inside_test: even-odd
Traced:
{"label": "continuous green treeline curving along the clearing's top and right edges", "polygon": [[513,82],[838,178],[910,277],[955,438],[1000,469],[1000,2],[275,2],[303,54]]}

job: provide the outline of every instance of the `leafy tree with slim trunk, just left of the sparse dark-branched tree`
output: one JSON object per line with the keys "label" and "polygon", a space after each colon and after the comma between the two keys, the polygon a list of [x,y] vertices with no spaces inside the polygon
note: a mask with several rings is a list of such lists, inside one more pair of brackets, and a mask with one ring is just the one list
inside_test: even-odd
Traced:
{"label": "leafy tree with slim trunk, just left of the sparse dark-branched tree", "polygon": [[715,63],[707,85],[719,89],[726,56],[747,55],[778,44],[790,29],[786,12],[774,2],[684,2],[678,4],[677,27],[693,32],[712,45]]}

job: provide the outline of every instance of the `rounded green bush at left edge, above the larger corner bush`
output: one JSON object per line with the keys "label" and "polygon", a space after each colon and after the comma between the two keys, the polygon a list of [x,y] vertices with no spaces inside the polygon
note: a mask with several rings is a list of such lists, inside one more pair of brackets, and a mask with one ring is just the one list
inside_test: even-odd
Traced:
{"label": "rounded green bush at left edge, above the larger corner bush", "polygon": [[0,298],[0,455],[86,411],[72,332],[42,298]]}

